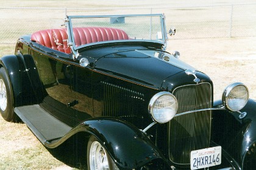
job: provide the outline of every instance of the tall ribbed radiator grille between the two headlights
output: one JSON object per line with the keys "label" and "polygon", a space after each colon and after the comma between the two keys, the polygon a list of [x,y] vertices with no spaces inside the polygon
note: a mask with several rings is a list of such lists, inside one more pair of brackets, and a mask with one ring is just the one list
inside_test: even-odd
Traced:
{"label": "tall ribbed radiator grille between the two headlights", "polygon": [[[172,92],[179,103],[177,114],[212,107],[209,83],[181,86]],[[190,152],[208,148],[212,112],[194,112],[169,121],[169,158],[174,163],[190,163]]]}

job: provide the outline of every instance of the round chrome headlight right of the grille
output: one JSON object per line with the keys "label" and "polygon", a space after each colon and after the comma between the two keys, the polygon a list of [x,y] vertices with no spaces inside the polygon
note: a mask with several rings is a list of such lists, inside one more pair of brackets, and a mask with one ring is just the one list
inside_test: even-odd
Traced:
{"label": "round chrome headlight right of the grille", "polygon": [[226,87],[222,95],[224,106],[233,111],[239,111],[246,106],[249,99],[249,92],[243,83],[233,83]]}

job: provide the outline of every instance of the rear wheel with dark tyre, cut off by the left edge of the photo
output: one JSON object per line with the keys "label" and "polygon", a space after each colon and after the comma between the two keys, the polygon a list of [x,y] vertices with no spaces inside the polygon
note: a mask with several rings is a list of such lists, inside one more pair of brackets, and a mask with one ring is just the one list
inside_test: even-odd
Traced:
{"label": "rear wheel with dark tyre, cut off by the left edge of the photo", "polygon": [[13,110],[13,95],[9,77],[4,67],[0,68],[0,112],[6,121],[16,121]]}

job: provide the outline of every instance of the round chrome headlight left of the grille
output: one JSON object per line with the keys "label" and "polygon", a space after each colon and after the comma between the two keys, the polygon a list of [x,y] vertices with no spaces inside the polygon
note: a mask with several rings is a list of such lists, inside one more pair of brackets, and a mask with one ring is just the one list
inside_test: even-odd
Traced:
{"label": "round chrome headlight left of the grille", "polygon": [[149,102],[149,114],[158,123],[170,121],[176,115],[177,109],[177,99],[169,92],[159,92]]}

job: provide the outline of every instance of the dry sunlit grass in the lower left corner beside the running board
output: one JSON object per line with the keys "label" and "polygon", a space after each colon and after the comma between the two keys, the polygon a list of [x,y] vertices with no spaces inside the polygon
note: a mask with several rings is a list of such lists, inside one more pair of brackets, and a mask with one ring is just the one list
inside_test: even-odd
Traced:
{"label": "dry sunlit grass in the lower left corner beside the running board", "polygon": [[0,117],[0,169],[51,169],[65,165],[29,131],[26,124]]}

